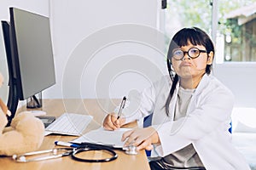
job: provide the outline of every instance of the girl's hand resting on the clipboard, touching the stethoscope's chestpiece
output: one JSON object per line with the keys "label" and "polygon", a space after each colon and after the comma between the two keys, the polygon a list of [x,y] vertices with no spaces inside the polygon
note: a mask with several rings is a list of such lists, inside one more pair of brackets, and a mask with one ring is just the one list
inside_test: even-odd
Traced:
{"label": "girl's hand resting on the clipboard, touching the stethoscope's chestpiece", "polygon": [[159,144],[160,139],[154,127],[135,128],[127,131],[122,136],[125,146],[135,145],[137,150],[152,150],[152,144]]}

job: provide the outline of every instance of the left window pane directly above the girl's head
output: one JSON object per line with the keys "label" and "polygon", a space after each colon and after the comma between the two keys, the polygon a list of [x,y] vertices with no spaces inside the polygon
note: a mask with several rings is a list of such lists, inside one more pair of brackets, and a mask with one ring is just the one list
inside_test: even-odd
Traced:
{"label": "left window pane directly above the girl's head", "polygon": [[212,6],[209,0],[167,0],[165,33],[172,36],[183,27],[197,26],[211,34]]}

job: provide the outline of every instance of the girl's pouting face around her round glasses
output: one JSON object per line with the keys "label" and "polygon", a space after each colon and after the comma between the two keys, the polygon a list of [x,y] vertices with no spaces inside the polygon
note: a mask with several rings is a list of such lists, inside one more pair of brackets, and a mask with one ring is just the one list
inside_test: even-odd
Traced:
{"label": "girl's pouting face around her round glasses", "polygon": [[[198,48],[200,50],[206,50],[206,48],[202,45],[193,45],[190,42],[186,46],[182,46],[180,49],[183,52],[188,52],[190,48]],[[213,52],[204,53],[201,52],[200,55],[192,59],[189,57],[188,53],[183,53],[183,59],[174,59],[172,57],[172,66],[173,70],[177,73],[177,75],[182,78],[194,78],[201,77],[206,72],[207,65],[212,64]]]}

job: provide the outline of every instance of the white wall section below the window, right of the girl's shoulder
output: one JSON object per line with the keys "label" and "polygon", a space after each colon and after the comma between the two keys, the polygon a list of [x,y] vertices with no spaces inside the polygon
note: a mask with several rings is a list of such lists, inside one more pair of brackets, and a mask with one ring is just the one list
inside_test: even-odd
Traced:
{"label": "white wall section below the window, right of the girl's shoulder", "polygon": [[223,63],[216,65],[213,72],[235,94],[236,107],[256,108],[256,63]]}

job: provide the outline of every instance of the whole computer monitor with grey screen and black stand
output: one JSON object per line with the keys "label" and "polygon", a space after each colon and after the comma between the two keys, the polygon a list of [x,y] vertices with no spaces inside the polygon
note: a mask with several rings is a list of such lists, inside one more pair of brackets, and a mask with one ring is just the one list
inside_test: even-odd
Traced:
{"label": "whole computer monitor with grey screen and black stand", "polygon": [[2,21],[2,26],[9,67],[10,124],[19,100],[35,98],[55,84],[55,66],[49,18],[19,8],[9,8],[9,14],[10,21]]}

